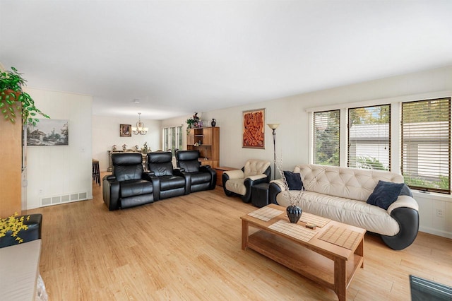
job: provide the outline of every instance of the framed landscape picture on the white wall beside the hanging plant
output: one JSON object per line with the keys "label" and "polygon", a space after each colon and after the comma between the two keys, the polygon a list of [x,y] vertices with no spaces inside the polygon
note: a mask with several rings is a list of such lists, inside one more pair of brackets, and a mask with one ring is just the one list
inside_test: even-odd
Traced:
{"label": "framed landscape picture on the white wall beside the hanging plant", "polygon": [[27,146],[69,146],[69,120],[39,120],[27,125]]}

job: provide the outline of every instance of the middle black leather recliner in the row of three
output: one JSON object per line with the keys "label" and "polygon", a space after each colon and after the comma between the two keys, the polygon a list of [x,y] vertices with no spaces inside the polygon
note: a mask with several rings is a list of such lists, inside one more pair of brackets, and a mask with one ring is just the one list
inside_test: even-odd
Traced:
{"label": "middle black leather recliner in the row of three", "polygon": [[148,153],[148,169],[153,181],[154,201],[187,194],[185,178],[173,170],[171,152]]}

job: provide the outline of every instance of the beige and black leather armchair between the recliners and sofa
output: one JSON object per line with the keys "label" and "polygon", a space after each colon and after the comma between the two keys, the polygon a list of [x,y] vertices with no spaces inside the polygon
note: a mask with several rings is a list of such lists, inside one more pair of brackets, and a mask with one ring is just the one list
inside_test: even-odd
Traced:
{"label": "beige and black leather armchair between the recliners and sofa", "polygon": [[270,161],[250,159],[241,170],[223,172],[223,189],[227,196],[239,195],[242,201],[251,201],[251,187],[259,183],[269,183]]}

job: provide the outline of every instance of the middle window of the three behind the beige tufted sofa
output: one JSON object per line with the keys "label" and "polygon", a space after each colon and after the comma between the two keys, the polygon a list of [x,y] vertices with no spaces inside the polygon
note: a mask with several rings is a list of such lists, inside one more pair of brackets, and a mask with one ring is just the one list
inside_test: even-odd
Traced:
{"label": "middle window of the three behind the beige tufted sofa", "polygon": [[348,167],[391,170],[391,105],[348,110]]}

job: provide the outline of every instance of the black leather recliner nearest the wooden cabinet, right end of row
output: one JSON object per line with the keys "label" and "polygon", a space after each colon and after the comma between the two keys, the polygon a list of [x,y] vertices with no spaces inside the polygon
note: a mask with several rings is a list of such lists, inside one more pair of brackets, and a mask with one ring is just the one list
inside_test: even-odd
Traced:
{"label": "black leather recliner nearest the wooden cabinet, right end of row", "polygon": [[179,172],[186,179],[187,193],[214,189],[217,173],[209,165],[201,165],[198,151],[177,151],[176,161]]}

